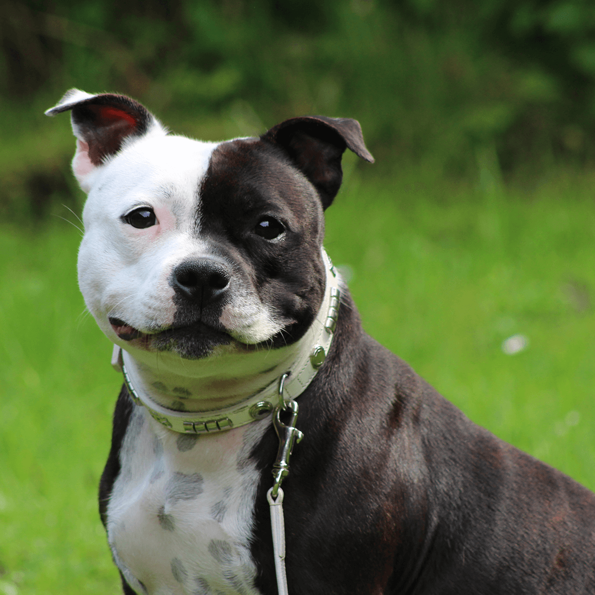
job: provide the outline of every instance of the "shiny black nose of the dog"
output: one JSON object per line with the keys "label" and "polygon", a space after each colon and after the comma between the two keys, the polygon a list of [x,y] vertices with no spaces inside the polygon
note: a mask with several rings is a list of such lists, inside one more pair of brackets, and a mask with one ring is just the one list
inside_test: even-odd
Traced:
{"label": "shiny black nose of the dog", "polygon": [[230,278],[231,272],[224,262],[200,258],[177,265],[173,274],[173,286],[176,292],[187,299],[205,306],[223,295]]}

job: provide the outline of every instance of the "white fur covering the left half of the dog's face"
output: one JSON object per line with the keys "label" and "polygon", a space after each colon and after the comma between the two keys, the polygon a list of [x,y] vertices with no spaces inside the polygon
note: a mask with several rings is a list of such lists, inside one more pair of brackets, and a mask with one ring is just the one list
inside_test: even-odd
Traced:
{"label": "white fur covering the left half of the dog's face", "polygon": [[[172,268],[199,256],[193,235],[199,183],[215,143],[180,136],[148,136],[96,168],[83,211],[79,285],[87,307],[109,339],[108,316],[151,331],[173,321]],[[151,206],[158,223],[136,229],[121,220]]]}

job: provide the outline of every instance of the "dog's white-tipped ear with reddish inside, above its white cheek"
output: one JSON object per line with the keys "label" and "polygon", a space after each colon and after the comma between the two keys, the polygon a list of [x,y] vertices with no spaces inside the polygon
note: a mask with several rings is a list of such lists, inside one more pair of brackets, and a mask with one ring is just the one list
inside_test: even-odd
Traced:
{"label": "dog's white-tipped ear with reddish inside, above its white cheek", "polygon": [[45,114],[56,115],[68,110],[72,112],[73,132],[77,137],[73,172],[85,192],[93,185],[93,174],[106,158],[120,151],[126,139],[148,133],[167,134],[151,112],[124,95],[90,95],[70,89]]}

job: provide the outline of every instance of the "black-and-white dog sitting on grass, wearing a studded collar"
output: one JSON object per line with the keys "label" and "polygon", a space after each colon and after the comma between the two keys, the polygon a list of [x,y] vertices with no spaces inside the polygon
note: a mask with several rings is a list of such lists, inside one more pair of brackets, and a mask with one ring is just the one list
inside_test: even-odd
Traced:
{"label": "black-and-white dog sitting on grass, wearing a studded collar", "polygon": [[362,330],[322,248],[343,152],[374,161],[357,121],[213,143],[122,95],[65,111],[80,289],[124,371],[99,511],[125,594],[277,593],[280,481],[292,594],[595,593],[594,494]]}

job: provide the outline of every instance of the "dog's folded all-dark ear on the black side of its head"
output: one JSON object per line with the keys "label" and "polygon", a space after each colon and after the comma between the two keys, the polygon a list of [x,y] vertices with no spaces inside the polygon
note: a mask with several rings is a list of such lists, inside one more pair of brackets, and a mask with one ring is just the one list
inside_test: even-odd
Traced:
{"label": "dog's folded all-dark ear on the black side of its head", "polygon": [[374,163],[364,144],[362,128],[351,118],[322,115],[291,118],[263,134],[289,154],[296,167],[318,190],[323,208],[330,206],[343,179],[341,156],[345,149]]}

